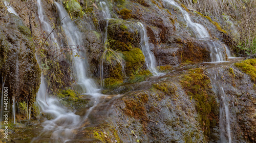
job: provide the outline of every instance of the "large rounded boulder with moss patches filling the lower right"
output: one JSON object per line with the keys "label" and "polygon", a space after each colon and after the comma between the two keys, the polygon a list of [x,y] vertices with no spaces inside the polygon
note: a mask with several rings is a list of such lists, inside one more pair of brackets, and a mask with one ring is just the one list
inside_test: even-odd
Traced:
{"label": "large rounded boulder with moss patches filling the lower right", "polygon": [[[233,64],[195,67],[201,66],[174,68],[171,74],[144,81],[136,91],[113,100],[111,107],[101,105],[99,110],[108,118],[97,128],[86,128],[86,137],[102,142],[220,142],[221,130],[226,130],[226,125],[220,126],[223,88],[232,142],[253,142],[256,86],[251,78]],[[91,118],[101,116],[96,113]],[[104,137],[103,132],[113,130],[118,136]]]}

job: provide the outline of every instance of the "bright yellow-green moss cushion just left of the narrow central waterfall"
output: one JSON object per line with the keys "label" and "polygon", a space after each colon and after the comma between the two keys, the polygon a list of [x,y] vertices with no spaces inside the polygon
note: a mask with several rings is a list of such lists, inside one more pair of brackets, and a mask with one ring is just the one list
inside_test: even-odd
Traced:
{"label": "bright yellow-green moss cushion just left of the narrow central waterfall", "polygon": [[127,75],[137,74],[139,69],[145,63],[145,57],[139,48],[133,48],[130,51],[123,51],[125,64],[125,73]]}

